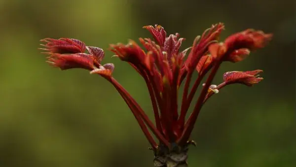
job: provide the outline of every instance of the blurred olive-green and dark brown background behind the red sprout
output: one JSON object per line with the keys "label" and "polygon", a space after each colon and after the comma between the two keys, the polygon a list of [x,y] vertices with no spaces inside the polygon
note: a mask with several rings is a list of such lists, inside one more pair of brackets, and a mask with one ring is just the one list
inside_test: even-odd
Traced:
{"label": "blurred olive-green and dark brown background behind the red sprout", "polygon": [[212,24],[221,39],[246,28],[274,33],[264,49],[222,74],[262,69],[254,87],[232,85],[202,109],[190,167],[295,167],[294,0],[0,0],[0,167],[151,167],[148,141],[116,90],[85,70],[60,71],[37,50],[45,37],[71,37],[106,50],[116,78],[152,117],[142,78],[107,51],[151,37],[160,24],[186,38]]}

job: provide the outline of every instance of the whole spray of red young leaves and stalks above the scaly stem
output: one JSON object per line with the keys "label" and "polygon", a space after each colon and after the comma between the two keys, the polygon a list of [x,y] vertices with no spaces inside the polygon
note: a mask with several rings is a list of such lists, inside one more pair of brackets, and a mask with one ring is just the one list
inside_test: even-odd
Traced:
{"label": "whole spray of red young leaves and stalks above the scaly stem", "polygon": [[[264,47],[271,40],[272,34],[265,34],[262,31],[247,29],[242,32],[230,35],[224,42],[218,42],[220,33],[224,29],[222,23],[213,25],[204,31],[201,36],[195,38],[192,47],[179,51],[185,38],[179,38],[179,34],[167,33],[163,27],[155,25],[145,26],[152,34],[154,41],[149,38],[140,38],[145,51],[135,42],[130,40],[127,45],[118,43],[111,44],[110,50],[122,61],[128,62],[145,80],[151,98],[156,128],[145,116],[144,111],[130,96],[130,94],[112,77],[114,65],[107,63],[102,65],[101,61],[105,56],[101,48],[85,46],[77,39],[46,38],[41,40],[46,54],[49,54],[48,61],[53,66],[62,70],[71,68],[83,68],[90,70],[91,74],[99,74],[110,81],[126,101],[137,120],[143,119],[148,124],[155,136],[169,146],[169,142],[177,142],[184,146],[190,137],[195,120],[205,101],[219,89],[227,84],[241,83],[252,86],[259,83],[261,70],[254,71],[232,71],[223,75],[224,82],[220,85],[213,85],[212,81],[223,61],[238,62],[245,59],[250,51]],[[186,52],[190,50],[185,59]],[[84,53],[87,50],[89,54]],[[189,91],[193,72],[199,73],[191,90]],[[206,83],[195,103],[193,112],[185,123],[186,112],[198,88],[204,81],[204,77],[210,72]],[[186,79],[183,91],[181,112],[178,112],[178,90],[182,81]],[[140,122],[141,122],[140,121]],[[141,128],[152,142],[148,129],[142,121]],[[139,122],[139,121],[138,121]]]}

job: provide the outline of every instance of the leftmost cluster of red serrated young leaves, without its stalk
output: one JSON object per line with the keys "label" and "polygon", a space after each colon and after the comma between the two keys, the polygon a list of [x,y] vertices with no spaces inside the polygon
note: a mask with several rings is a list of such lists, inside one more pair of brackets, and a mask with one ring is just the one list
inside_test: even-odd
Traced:
{"label": "leftmost cluster of red serrated young leaves, without its stalk", "polygon": [[[47,62],[62,70],[72,68],[93,70],[102,66],[100,63],[105,54],[101,48],[85,46],[80,40],[70,38],[45,38],[40,41],[46,42],[41,44],[45,48],[39,49],[48,51],[45,52],[50,55],[47,57]],[[85,50],[89,54],[85,54]]]}

